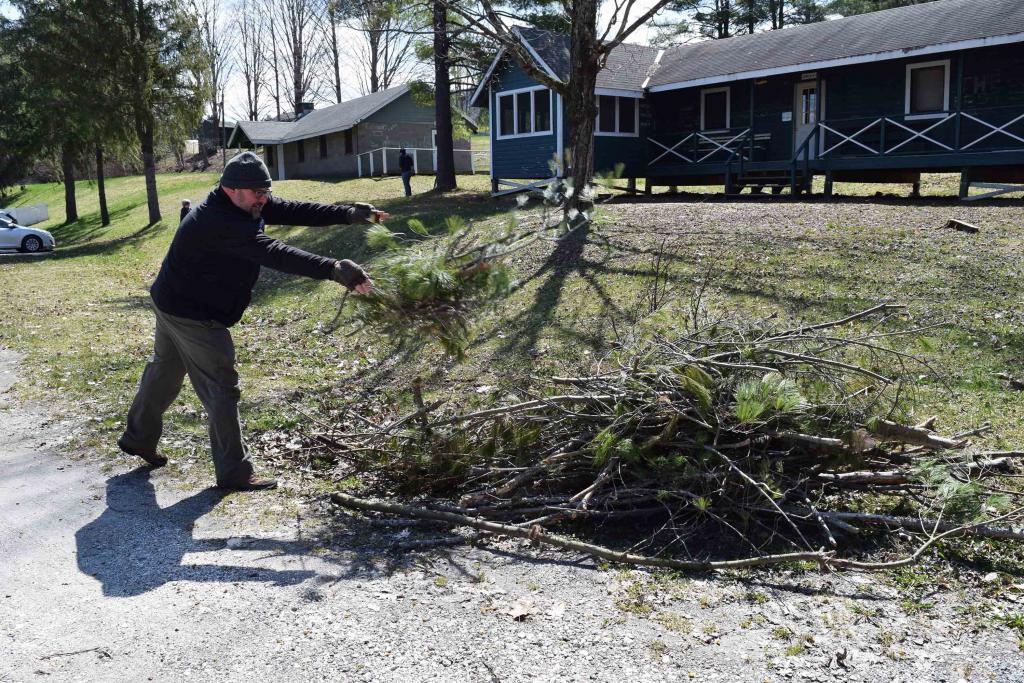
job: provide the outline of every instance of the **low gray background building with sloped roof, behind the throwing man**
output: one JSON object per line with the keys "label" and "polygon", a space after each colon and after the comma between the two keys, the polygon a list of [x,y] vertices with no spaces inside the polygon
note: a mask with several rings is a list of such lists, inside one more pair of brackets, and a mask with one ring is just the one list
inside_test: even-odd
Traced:
{"label": "low gray background building with sloped roof, behind the throwing man", "polygon": [[[413,99],[409,85],[380,90],[295,121],[240,121],[229,147],[263,147],[278,180],[339,176],[395,175],[398,148],[407,147],[418,173],[433,173],[434,111]],[[472,172],[468,139],[456,139],[455,165]],[[486,160],[479,160],[481,170]]]}

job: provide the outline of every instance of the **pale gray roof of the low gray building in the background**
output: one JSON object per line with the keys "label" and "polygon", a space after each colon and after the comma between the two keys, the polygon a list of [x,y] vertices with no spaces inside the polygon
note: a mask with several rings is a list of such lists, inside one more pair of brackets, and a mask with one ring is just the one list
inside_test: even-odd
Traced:
{"label": "pale gray roof of the low gray building in the background", "polygon": [[253,144],[283,144],[346,130],[407,92],[407,84],[378,90],[364,97],[313,110],[298,121],[240,121],[231,133],[228,146],[241,137],[240,130]]}

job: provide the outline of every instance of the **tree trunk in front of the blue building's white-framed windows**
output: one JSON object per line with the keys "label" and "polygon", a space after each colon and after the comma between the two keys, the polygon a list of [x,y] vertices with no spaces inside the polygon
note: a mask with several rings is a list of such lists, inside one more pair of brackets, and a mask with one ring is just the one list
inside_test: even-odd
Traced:
{"label": "tree trunk in front of the blue building's white-framed windows", "polygon": [[[569,131],[568,176],[575,191],[566,203],[566,212],[573,209],[589,213],[594,205],[592,197],[583,197],[581,190],[594,176],[594,122],[597,120],[597,102],[594,88],[600,71],[597,44],[597,0],[578,0],[572,17],[572,40],[569,47],[569,83],[565,99],[565,122]],[[584,220],[583,215],[569,221],[569,225]]]}

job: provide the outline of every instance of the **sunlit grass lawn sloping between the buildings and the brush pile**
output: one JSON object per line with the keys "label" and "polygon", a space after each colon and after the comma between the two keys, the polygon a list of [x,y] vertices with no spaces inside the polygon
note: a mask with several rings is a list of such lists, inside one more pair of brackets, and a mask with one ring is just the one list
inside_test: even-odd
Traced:
{"label": "sunlit grass lawn sloping between the buildings and the brush pile", "polygon": [[[410,200],[401,197],[398,178],[290,180],[275,183],[274,191],[288,199],[373,202],[393,214],[392,229],[414,217],[436,227],[449,215],[499,224],[515,205],[489,198],[485,176],[460,176],[464,189],[444,197],[426,194],[432,181],[415,176],[417,195]],[[89,182],[78,185],[82,218],[70,225],[60,225],[61,185],[29,186],[9,203],[48,204],[52,218],[42,227],[54,233],[58,249],[45,257],[0,256],[0,287],[7,293],[0,346],[27,354],[19,395],[58,402],[91,420],[94,429],[82,444],[92,453],[116,454],[114,440],[152,343],[147,288],[173,236],[179,200],[198,203],[215,182],[212,174],[160,176],[166,219],[148,226],[140,177],[109,181],[113,223],[105,228]],[[383,419],[404,410],[418,375],[431,393],[465,405],[477,400],[480,385],[521,394],[531,378],[586,367],[608,349],[611,318],[638,307],[663,245],[684,294],[711,267],[711,298],[722,309],[814,321],[891,300],[907,304],[924,323],[948,324],[930,332],[926,344],[907,347],[946,382],[923,379],[915,417],[939,415],[945,432],[991,421],[995,430],[986,439],[992,445],[1024,443],[1024,400],[993,376],[1024,375],[1024,209],[1019,201],[877,200],[877,189],[839,185],[844,196],[861,197],[835,203],[688,195],[678,202],[609,204],[588,234],[515,257],[521,287],[481,316],[480,335],[461,364],[429,345],[393,349],[370,331],[346,336],[350,326],[326,335],[338,286],[264,270],[253,305],[232,330],[243,419],[256,458],[286,466],[270,455],[283,434],[309,425],[306,415],[330,421],[354,404]],[[926,195],[954,189],[948,176],[925,185]],[[982,232],[943,230],[949,217],[977,223]],[[359,228],[268,232],[373,271]],[[663,323],[671,326],[668,310]],[[206,447],[202,407],[185,390],[168,415],[164,450],[206,481]]]}

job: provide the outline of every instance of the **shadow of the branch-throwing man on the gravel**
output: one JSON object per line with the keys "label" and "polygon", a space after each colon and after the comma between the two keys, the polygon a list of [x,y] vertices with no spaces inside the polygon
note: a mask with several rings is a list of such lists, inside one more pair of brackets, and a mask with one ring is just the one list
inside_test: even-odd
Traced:
{"label": "shadow of the branch-throwing man on the gravel", "polygon": [[[308,570],[278,570],[222,564],[182,564],[186,553],[216,551],[225,539],[195,539],[193,525],[225,496],[207,488],[174,505],[157,505],[148,467],[106,480],[106,509],[75,533],[78,567],[102,584],[103,595],[141,595],[172,581],[272,582],[300,584],[315,575]],[[245,550],[300,552],[288,541],[248,539]]]}

